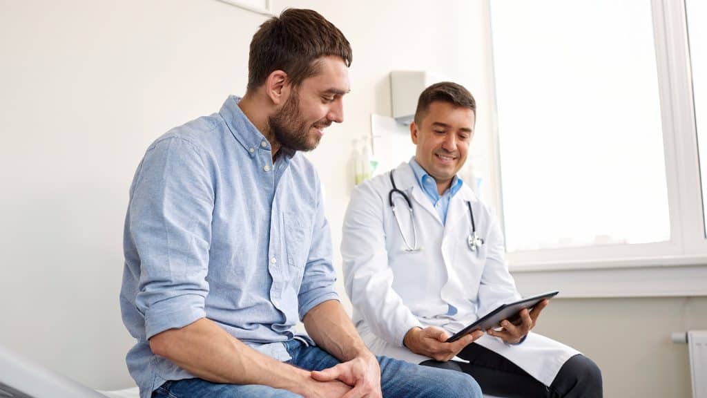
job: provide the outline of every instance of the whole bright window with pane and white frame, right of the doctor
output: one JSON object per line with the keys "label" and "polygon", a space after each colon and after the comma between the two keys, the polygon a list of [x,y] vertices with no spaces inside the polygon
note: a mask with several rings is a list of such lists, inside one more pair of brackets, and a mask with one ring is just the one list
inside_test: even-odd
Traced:
{"label": "whole bright window with pane and white frame, right of the doctor", "polygon": [[705,9],[490,2],[512,269],[707,264]]}

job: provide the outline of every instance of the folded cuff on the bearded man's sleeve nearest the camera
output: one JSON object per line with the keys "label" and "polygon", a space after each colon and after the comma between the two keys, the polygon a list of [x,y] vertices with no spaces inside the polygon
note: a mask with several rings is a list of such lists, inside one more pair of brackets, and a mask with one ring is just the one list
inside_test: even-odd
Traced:
{"label": "folded cuff on the bearded man's sleeve nearest the camera", "polygon": [[151,305],[145,312],[147,339],[168,329],[180,329],[206,317],[204,297],[180,295]]}

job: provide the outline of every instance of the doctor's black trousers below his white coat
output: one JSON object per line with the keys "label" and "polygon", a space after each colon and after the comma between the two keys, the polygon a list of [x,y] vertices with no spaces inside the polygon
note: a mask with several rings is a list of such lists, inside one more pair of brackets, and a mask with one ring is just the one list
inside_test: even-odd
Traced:
{"label": "doctor's black trousers below his white coat", "polygon": [[420,365],[467,373],[477,380],[484,394],[498,397],[602,397],[601,370],[581,354],[569,358],[549,386],[543,385],[510,360],[477,343],[469,344],[457,356],[469,363],[426,360]]}

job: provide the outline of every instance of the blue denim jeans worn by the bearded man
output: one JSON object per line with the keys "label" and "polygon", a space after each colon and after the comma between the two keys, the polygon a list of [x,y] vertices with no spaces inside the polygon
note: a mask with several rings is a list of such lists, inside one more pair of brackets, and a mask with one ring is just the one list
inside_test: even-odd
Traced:
{"label": "blue denim jeans worn by the bearded man", "polygon": [[[291,365],[306,370],[323,370],[339,363],[320,348],[297,340],[285,343],[292,356]],[[481,398],[481,389],[471,376],[453,370],[428,368],[383,356],[380,363],[380,387],[385,398]],[[216,384],[201,379],[165,382],[153,398],[295,398],[298,394],[264,385]]]}

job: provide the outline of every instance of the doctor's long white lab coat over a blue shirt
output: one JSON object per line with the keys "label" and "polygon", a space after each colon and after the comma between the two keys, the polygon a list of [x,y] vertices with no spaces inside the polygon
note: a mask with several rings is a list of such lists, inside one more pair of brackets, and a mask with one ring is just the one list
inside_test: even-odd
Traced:
{"label": "doctor's long white lab coat over a blue shirt", "polygon": [[[518,300],[508,273],[503,235],[489,207],[466,185],[452,197],[443,225],[407,163],[395,169],[395,184],[412,203],[421,251],[405,250],[392,215],[389,173],[356,187],[344,219],[341,254],[344,283],[354,307],[354,324],[376,355],[420,363],[425,356],[402,345],[414,326],[438,326],[456,333],[504,302]],[[407,203],[393,195],[402,232],[414,242]],[[477,252],[467,245],[472,232],[467,202],[474,211]],[[550,385],[568,358],[578,353],[562,343],[530,333],[520,345],[484,334],[476,341]]]}

